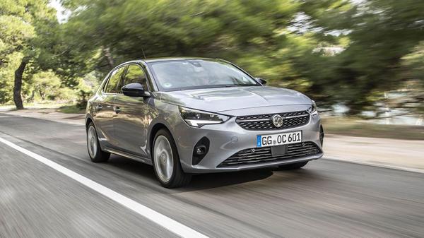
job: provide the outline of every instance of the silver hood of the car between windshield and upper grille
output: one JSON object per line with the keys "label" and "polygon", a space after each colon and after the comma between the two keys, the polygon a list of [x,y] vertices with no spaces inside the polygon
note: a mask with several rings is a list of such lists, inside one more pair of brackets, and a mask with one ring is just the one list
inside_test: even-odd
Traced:
{"label": "silver hood of the car between windshield and upper grille", "polygon": [[160,92],[157,96],[163,102],[208,112],[312,103],[295,90],[269,86],[181,90]]}

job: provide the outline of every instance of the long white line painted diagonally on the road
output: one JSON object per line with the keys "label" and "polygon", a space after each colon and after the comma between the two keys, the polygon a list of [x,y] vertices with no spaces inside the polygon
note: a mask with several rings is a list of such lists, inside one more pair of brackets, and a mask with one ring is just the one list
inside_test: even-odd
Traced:
{"label": "long white line painted diagonally on the road", "polygon": [[97,191],[103,196],[106,196],[107,198],[112,199],[113,201],[125,206],[126,208],[134,210],[134,212],[139,213],[140,215],[147,218],[148,220],[155,222],[156,224],[164,227],[170,232],[173,232],[179,235],[180,237],[196,237],[196,238],[206,237],[204,234],[196,232],[192,228],[182,225],[176,220],[172,220],[171,218],[168,218],[167,216],[161,213],[158,213],[157,211],[151,208],[143,206],[140,203],[137,203],[136,201],[132,200],[131,198],[127,198],[126,196],[123,196],[122,194],[118,194],[116,191],[113,191],[112,189],[108,189],[107,187],[102,186],[101,184],[98,184],[97,182],[94,182],[91,179],[83,177],[81,174],[73,172],[71,169],[67,169],[66,167],[63,167],[57,164],[56,162],[53,162],[52,160],[47,159],[46,157],[37,155],[36,153],[33,153],[30,150],[22,148],[19,145],[16,145],[15,143],[12,143],[10,141],[6,141],[4,138],[0,138],[0,142],[10,146],[11,148],[15,150],[18,150],[21,153],[24,153],[25,155],[33,157],[35,160],[38,160],[42,162],[43,164],[49,167],[52,167],[53,169],[56,169],[58,172],[61,172],[62,174],[65,174],[71,179],[74,179],[77,182],[80,182],[81,184],[88,186],[90,189]]}

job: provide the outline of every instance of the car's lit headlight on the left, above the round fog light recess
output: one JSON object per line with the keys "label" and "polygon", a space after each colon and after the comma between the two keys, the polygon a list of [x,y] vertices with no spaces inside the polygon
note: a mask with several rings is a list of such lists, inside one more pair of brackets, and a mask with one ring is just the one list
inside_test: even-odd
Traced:
{"label": "car's lit headlight on the left, above the round fog light recess", "polygon": [[221,124],[230,119],[230,117],[225,115],[203,112],[187,107],[178,107],[178,109],[182,119],[184,119],[189,126],[201,127],[208,124]]}

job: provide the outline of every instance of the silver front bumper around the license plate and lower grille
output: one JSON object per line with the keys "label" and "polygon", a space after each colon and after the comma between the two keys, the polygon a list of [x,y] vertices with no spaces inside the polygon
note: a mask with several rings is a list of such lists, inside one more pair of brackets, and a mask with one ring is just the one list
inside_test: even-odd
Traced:
{"label": "silver front bumper around the license plate and lower grille", "polygon": [[[321,120],[318,114],[311,115],[309,122],[304,126],[272,131],[248,131],[242,129],[242,127],[235,122],[235,117],[230,118],[223,124],[206,125],[201,128],[188,126],[182,119],[180,119],[172,133],[175,138],[175,143],[177,144],[177,150],[184,172],[230,172],[316,160],[322,157],[323,150],[319,141],[320,126]],[[320,153],[307,155],[305,157],[288,157],[284,160],[255,162],[248,165],[221,165],[221,163],[232,155],[235,155],[235,153],[240,152],[240,150],[256,148],[257,135],[300,130],[302,131],[302,141],[316,144]],[[196,145],[196,143],[204,137],[208,138],[210,141],[208,153],[197,165],[193,165],[192,157],[194,145]]]}

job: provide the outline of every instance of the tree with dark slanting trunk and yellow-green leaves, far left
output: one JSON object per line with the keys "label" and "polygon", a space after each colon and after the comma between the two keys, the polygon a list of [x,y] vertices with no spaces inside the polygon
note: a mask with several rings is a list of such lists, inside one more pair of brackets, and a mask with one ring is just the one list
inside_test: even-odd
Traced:
{"label": "tree with dark slanting trunk and yellow-green leaves, far left", "polygon": [[[17,109],[23,109],[21,96],[23,74],[28,64],[35,68],[35,60],[45,51],[43,38],[49,37],[49,30],[57,23],[55,10],[47,6],[47,0],[1,1],[0,3],[0,63],[8,64],[8,55],[20,54],[20,64],[14,71],[13,101]],[[38,65],[37,65],[38,64]]]}

